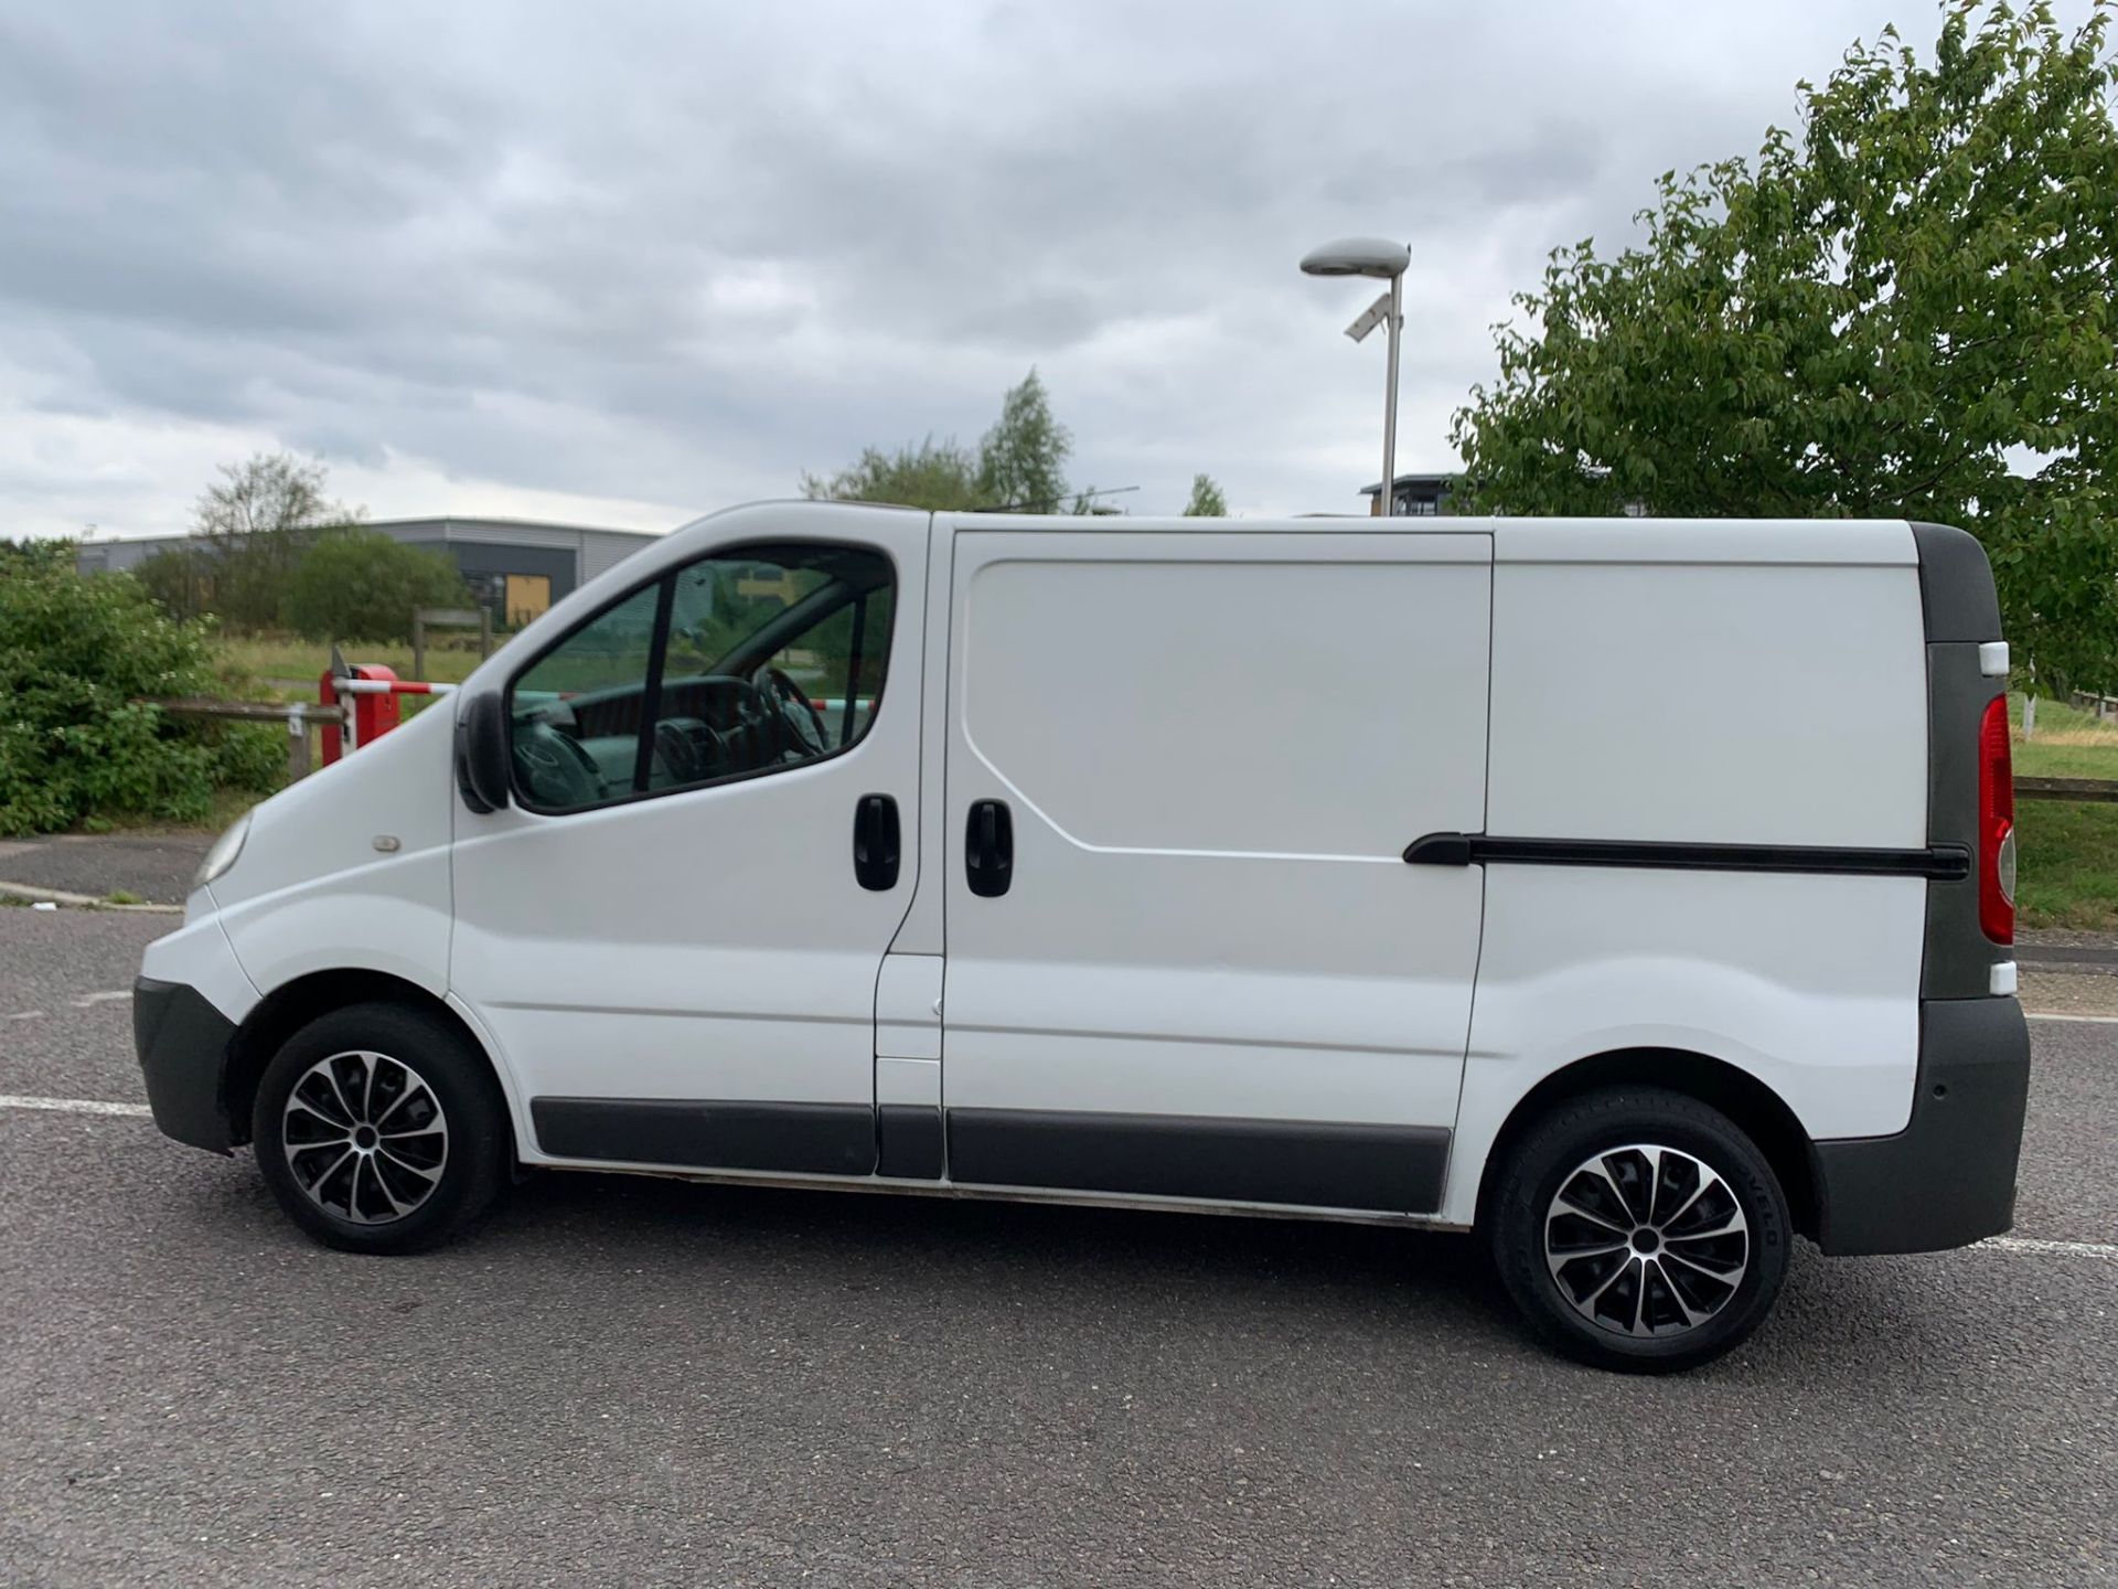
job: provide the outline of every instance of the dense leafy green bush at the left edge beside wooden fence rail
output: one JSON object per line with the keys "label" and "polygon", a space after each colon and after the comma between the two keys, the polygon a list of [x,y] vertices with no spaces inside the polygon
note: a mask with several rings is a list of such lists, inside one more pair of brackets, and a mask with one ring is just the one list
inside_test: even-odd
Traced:
{"label": "dense leafy green bush at the left edge beside wooden fence rail", "polygon": [[216,788],[267,792],[271,729],[172,718],[140,697],[218,695],[203,623],[127,574],[80,574],[64,540],[0,540],[0,835],[91,818],[197,822]]}

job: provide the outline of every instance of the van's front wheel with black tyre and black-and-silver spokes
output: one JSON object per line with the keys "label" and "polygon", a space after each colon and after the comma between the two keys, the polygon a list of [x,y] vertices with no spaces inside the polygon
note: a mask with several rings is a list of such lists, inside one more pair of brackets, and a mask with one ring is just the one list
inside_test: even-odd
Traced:
{"label": "van's front wheel with black tyre and black-and-silver spokes", "polygon": [[354,1004],[273,1055],[252,1114],[280,1208],[345,1252],[421,1252],[485,1214],[508,1176],[508,1117],[485,1057],[447,1021]]}

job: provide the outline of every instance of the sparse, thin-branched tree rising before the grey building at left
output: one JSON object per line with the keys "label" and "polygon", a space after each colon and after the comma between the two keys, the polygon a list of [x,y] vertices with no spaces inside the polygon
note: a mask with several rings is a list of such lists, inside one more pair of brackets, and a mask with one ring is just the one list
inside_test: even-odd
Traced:
{"label": "sparse, thin-branched tree rising before the grey building at left", "polygon": [[[360,508],[333,502],[324,492],[322,460],[256,453],[220,466],[220,481],[205,487],[191,517],[205,542],[195,572],[203,574],[208,608],[222,623],[269,629],[286,617],[294,566],[309,544],[320,532],[360,519]],[[178,570],[169,570],[157,585],[178,578]]]}

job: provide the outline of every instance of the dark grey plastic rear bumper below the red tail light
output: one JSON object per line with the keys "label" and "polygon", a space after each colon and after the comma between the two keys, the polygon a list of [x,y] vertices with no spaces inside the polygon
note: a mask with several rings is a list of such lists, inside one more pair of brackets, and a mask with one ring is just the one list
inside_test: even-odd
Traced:
{"label": "dark grey plastic rear bumper below the red tail light", "polygon": [[1896,1136],[1817,1142],[1817,1246],[1940,1252],[2014,1225],[2029,1025],[2012,998],[1919,1006],[1913,1119]]}

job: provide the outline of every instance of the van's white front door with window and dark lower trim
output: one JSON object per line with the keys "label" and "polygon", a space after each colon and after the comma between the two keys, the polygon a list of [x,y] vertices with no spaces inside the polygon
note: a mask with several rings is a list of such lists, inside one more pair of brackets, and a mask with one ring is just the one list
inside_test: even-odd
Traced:
{"label": "van's white front door with window and dark lower trim", "polygon": [[[930,521],[841,523],[667,570],[510,678],[515,799],[457,811],[451,994],[536,1157],[875,1170]],[[898,860],[856,873],[877,801]]]}

